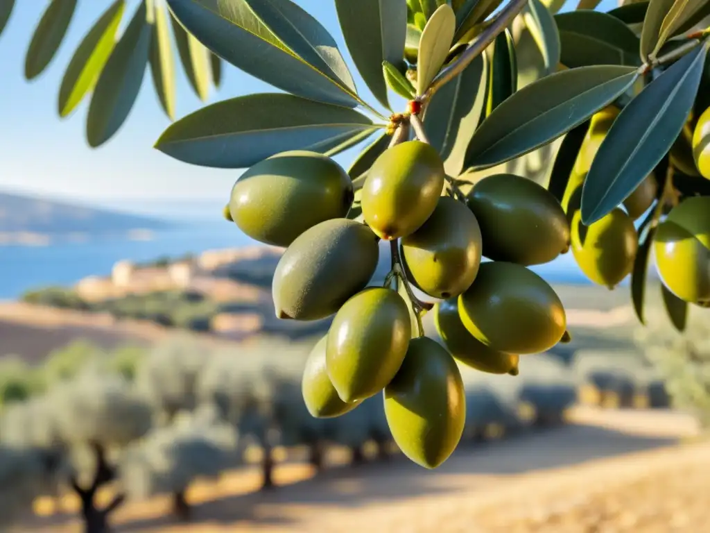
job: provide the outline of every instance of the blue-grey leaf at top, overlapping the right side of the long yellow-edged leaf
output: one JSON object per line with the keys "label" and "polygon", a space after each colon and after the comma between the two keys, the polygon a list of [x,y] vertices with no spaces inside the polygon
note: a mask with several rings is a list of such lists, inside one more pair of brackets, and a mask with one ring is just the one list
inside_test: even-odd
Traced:
{"label": "blue-grey leaf at top, overlapping the right side of the long yellow-edged leaf", "polygon": [[293,53],[356,93],[355,82],[337,43],[315,17],[291,0],[246,0],[246,3]]}

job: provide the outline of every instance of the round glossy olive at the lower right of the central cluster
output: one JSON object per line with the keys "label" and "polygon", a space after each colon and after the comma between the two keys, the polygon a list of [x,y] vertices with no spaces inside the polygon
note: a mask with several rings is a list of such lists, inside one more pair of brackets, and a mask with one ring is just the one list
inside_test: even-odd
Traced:
{"label": "round glossy olive at the lower right of the central cluster", "polygon": [[481,343],[521,355],[549,350],[567,327],[552,287],[525,266],[508,262],[481,263],[476,281],[459,296],[459,316]]}

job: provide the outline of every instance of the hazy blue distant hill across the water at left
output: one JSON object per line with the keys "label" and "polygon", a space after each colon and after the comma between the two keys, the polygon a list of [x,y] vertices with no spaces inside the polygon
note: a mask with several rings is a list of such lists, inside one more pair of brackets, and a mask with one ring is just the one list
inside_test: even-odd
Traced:
{"label": "hazy blue distant hill across the water at left", "polygon": [[169,222],[110,210],[87,208],[48,198],[0,193],[0,234],[31,233],[60,237],[125,234],[162,230]]}

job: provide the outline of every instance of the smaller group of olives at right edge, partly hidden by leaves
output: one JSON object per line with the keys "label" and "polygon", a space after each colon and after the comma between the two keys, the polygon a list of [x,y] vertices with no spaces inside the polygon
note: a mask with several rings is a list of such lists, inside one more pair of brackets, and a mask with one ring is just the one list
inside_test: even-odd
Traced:
{"label": "smaller group of olives at right edge, partly hidden by leaves", "polygon": [[[659,192],[655,176],[650,175],[624,200],[623,206],[589,227],[582,225],[581,188],[619,112],[610,106],[592,117],[562,200],[571,225],[574,259],[591,281],[610,289],[633,270],[638,251],[634,222],[648,211]],[[687,176],[710,178],[709,142],[703,141],[709,138],[710,110],[697,122],[690,117],[669,154],[674,168]],[[667,289],[689,303],[710,305],[710,197],[686,198],[672,208],[655,233],[653,251],[658,274]]]}

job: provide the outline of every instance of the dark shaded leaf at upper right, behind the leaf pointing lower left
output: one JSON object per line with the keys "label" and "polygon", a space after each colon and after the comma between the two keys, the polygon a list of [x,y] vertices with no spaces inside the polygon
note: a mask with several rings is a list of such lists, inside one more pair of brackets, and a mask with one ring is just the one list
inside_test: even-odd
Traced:
{"label": "dark shaded leaf at upper right, behind the leaf pointing lower left", "polygon": [[555,15],[555,21],[563,65],[640,65],[638,37],[615,16],[572,11]]}

